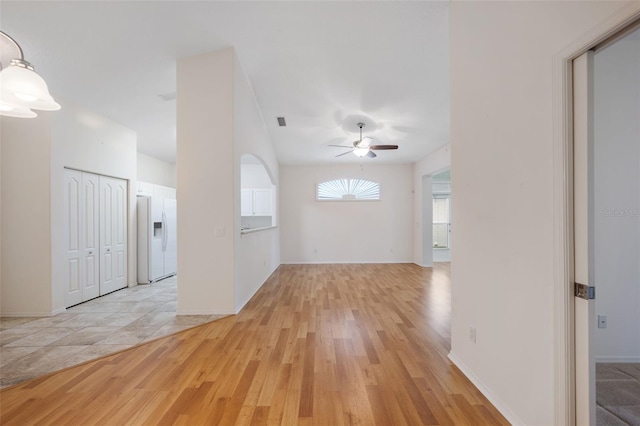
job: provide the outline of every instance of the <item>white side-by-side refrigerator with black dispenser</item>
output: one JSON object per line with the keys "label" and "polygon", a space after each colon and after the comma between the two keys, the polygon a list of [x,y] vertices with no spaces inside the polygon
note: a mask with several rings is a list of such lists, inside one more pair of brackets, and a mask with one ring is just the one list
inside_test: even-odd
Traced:
{"label": "white side-by-side refrigerator with black dispenser", "polygon": [[178,269],[176,200],[138,197],[138,283],[175,275]]}

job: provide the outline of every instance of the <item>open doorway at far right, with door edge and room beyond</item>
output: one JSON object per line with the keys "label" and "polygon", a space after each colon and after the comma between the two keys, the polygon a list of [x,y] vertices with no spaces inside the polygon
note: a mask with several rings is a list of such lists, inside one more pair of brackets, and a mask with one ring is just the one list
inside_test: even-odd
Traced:
{"label": "open doorway at far right, with door edge and room beyond", "polygon": [[637,424],[640,29],[597,44],[572,69],[575,421]]}

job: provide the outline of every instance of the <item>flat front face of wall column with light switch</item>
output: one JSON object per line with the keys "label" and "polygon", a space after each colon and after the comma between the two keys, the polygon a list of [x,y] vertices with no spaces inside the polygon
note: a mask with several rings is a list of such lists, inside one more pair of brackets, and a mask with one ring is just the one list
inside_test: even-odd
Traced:
{"label": "flat front face of wall column with light switch", "polygon": [[178,314],[235,312],[233,49],[177,64]]}

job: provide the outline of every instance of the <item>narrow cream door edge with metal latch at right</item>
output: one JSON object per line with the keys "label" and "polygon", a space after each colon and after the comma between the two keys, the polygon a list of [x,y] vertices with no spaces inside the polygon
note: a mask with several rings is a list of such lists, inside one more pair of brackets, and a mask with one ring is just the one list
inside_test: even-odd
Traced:
{"label": "narrow cream door edge with metal latch at right", "polygon": [[[576,424],[594,425],[595,359],[593,336],[595,300],[589,288],[593,274],[593,52],[573,61],[573,206],[574,206],[574,281],[581,284],[587,298],[576,296],[575,389]],[[584,294],[583,294],[584,296]]]}

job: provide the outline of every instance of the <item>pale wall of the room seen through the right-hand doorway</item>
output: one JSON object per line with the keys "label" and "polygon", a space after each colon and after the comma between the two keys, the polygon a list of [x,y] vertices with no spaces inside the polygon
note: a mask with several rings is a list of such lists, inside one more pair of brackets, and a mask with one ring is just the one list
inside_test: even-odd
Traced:
{"label": "pale wall of the room seen through the right-hand doorway", "polygon": [[640,362],[640,32],[594,55],[598,362]]}

